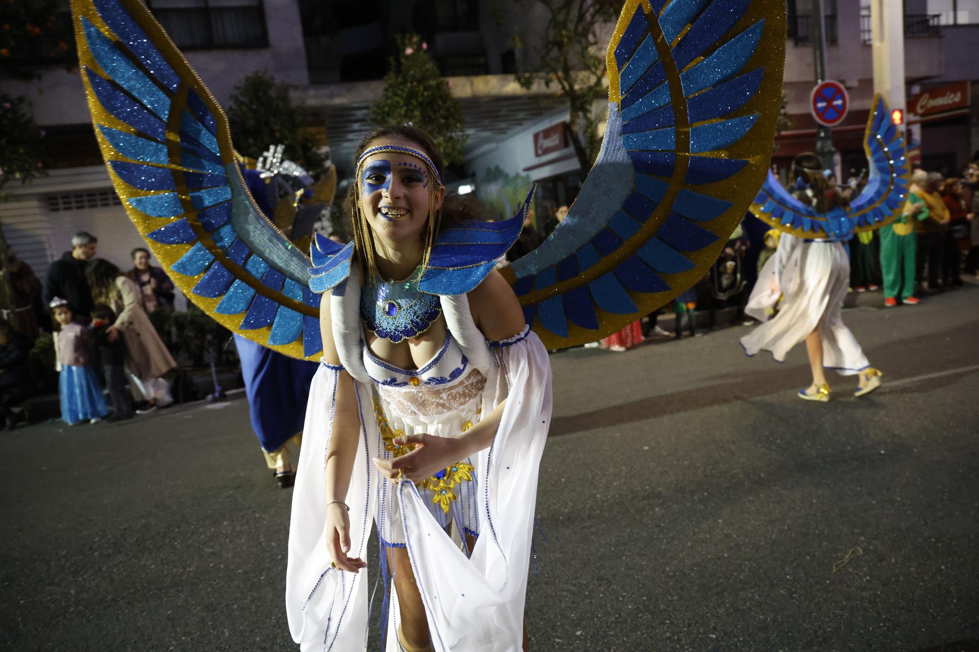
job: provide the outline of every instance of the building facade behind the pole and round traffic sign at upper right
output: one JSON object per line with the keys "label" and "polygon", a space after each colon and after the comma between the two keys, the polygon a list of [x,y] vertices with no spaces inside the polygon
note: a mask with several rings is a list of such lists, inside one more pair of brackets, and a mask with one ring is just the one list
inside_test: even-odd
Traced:
{"label": "building facade behind the pole and round traffic sign at upper right", "polygon": [[[813,0],[788,0],[783,88],[792,126],[776,138],[773,161],[785,168],[792,158],[815,148],[816,120],[810,111],[816,85],[812,44]],[[863,129],[873,99],[873,63],[870,54],[869,0],[823,0],[826,40],[826,76],[841,82],[850,98],[850,112],[833,129],[833,142],[840,152],[844,178],[865,168]],[[929,170],[957,175],[979,150],[979,0],[905,0],[905,76],[908,86],[908,115],[911,153]],[[950,84],[961,92],[955,113],[913,113],[921,94]],[[964,89],[964,90],[963,90]],[[934,99],[934,92],[929,97]],[[943,93],[944,97],[944,93]],[[926,98],[927,101],[927,98]],[[916,126],[915,126],[916,125]]]}

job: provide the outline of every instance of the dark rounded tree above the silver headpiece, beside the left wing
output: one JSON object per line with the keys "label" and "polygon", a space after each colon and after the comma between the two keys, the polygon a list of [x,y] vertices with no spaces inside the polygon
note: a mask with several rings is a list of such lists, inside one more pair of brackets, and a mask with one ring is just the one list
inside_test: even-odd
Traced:
{"label": "dark rounded tree above the silver headpiece, beside the left wing", "polygon": [[269,145],[283,145],[283,156],[312,176],[326,171],[316,141],[303,132],[303,113],[289,98],[289,86],[259,70],[235,86],[228,106],[231,141],[244,156],[257,159]]}

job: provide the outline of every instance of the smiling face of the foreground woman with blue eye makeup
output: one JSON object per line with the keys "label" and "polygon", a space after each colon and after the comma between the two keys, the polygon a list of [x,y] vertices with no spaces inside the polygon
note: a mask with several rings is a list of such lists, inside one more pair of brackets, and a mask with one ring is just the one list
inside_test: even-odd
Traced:
{"label": "smiling face of the foreground woman with blue eye makeup", "polygon": [[[421,145],[404,138],[371,141],[367,149],[381,145],[409,147],[424,152]],[[379,152],[367,157],[361,167],[361,208],[375,235],[389,243],[417,238],[428,221],[430,184],[439,194],[435,208],[442,206],[444,188],[428,165],[410,154]]]}

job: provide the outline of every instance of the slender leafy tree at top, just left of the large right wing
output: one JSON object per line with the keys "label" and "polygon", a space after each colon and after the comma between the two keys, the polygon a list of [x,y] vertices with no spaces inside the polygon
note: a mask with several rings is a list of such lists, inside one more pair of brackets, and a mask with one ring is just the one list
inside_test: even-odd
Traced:
{"label": "slender leafy tree at top, just left of the large right wing", "polygon": [[[530,89],[539,80],[546,88],[556,86],[560,96],[568,99],[571,143],[582,169],[590,169],[601,148],[598,125],[605,115],[595,111],[595,104],[608,94],[604,50],[607,44],[599,28],[616,20],[622,2],[516,0],[516,4],[528,13],[532,6],[541,7],[547,15],[536,48],[540,70],[518,72],[517,82]],[[515,49],[521,48],[518,36],[514,36],[513,43]]]}

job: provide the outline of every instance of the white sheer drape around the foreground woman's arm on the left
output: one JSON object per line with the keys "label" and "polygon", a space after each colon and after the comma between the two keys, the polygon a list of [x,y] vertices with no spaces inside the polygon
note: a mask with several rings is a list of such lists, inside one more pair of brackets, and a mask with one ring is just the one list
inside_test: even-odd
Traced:
{"label": "white sheer drape around the foreground woman's arm on the left", "polygon": [[[343,367],[320,364],[309,387],[303,427],[303,452],[293,489],[286,570],[286,613],[293,639],[303,650],[364,649],[367,645],[367,569],[353,575],[331,568],[326,548],[326,451],[332,434],[337,384]],[[353,460],[350,505],[350,556],[367,558],[378,473],[380,436],[370,419],[369,389],[354,383],[360,418],[360,445]],[[364,418],[365,414],[368,418]]]}

